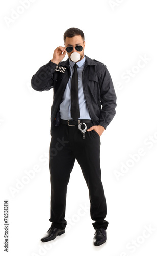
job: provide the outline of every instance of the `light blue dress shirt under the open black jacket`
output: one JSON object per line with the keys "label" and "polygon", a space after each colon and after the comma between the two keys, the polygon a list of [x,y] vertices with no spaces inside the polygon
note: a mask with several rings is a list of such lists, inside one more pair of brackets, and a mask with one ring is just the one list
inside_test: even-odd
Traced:
{"label": "light blue dress shirt under the open black jacket", "polygon": [[[85,94],[83,91],[83,84],[82,84],[82,72],[85,66],[85,60],[86,60],[86,57],[84,56],[82,60],[76,63],[79,66],[77,68],[78,80],[79,80],[79,108],[80,108],[79,119],[91,119],[88,106],[86,103],[86,99],[85,99]],[[74,72],[73,66],[75,65],[75,62],[69,59],[69,64],[70,64],[69,66],[70,66],[71,76],[65,88],[65,91],[62,97],[62,102],[60,103],[60,115],[61,115],[61,119],[64,119],[64,120],[72,119],[71,118],[71,79]]]}

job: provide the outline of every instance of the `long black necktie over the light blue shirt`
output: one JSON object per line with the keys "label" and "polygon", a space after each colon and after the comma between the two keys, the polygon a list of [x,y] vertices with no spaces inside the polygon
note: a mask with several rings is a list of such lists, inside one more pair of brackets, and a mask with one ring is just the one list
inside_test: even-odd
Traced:
{"label": "long black necktie over the light blue shirt", "polygon": [[75,64],[73,66],[74,72],[71,80],[71,117],[76,121],[80,117],[79,110],[79,82],[77,68],[79,66]]}

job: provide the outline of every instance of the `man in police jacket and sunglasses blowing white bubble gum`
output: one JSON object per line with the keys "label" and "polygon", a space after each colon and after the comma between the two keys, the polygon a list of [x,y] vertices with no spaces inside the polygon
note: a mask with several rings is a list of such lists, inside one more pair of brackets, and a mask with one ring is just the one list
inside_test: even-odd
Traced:
{"label": "man in police jacket and sunglasses blowing white bubble gum", "polygon": [[[107,206],[101,182],[100,136],[115,116],[116,94],[106,65],[85,56],[84,49],[83,31],[68,29],[64,47],[57,47],[53,58],[31,80],[37,91],[54,90],[49,150],[52,224],[42,242],[65,232],[67,185],[75,159],[89,189],[90,215],[95,221],[93,243],[98,246],[107,239],[109,222],[105,220]],[[66,53],[68,59],[62,61]]]}

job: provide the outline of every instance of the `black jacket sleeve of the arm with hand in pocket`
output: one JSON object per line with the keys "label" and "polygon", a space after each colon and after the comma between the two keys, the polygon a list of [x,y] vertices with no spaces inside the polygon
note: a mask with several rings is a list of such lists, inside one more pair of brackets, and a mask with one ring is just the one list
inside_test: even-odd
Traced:
{"label": "black jacket sleeve of the arm with hand in pocket", "polygon": [[116,114],[115,108],[117,106],[117,97],[113,86],[112,78],[106,66],[103,66],[103,72],[101,69],[99,86],[101,100],[101,114],[99,119],[99,125],[103,126],[106,129]]}

